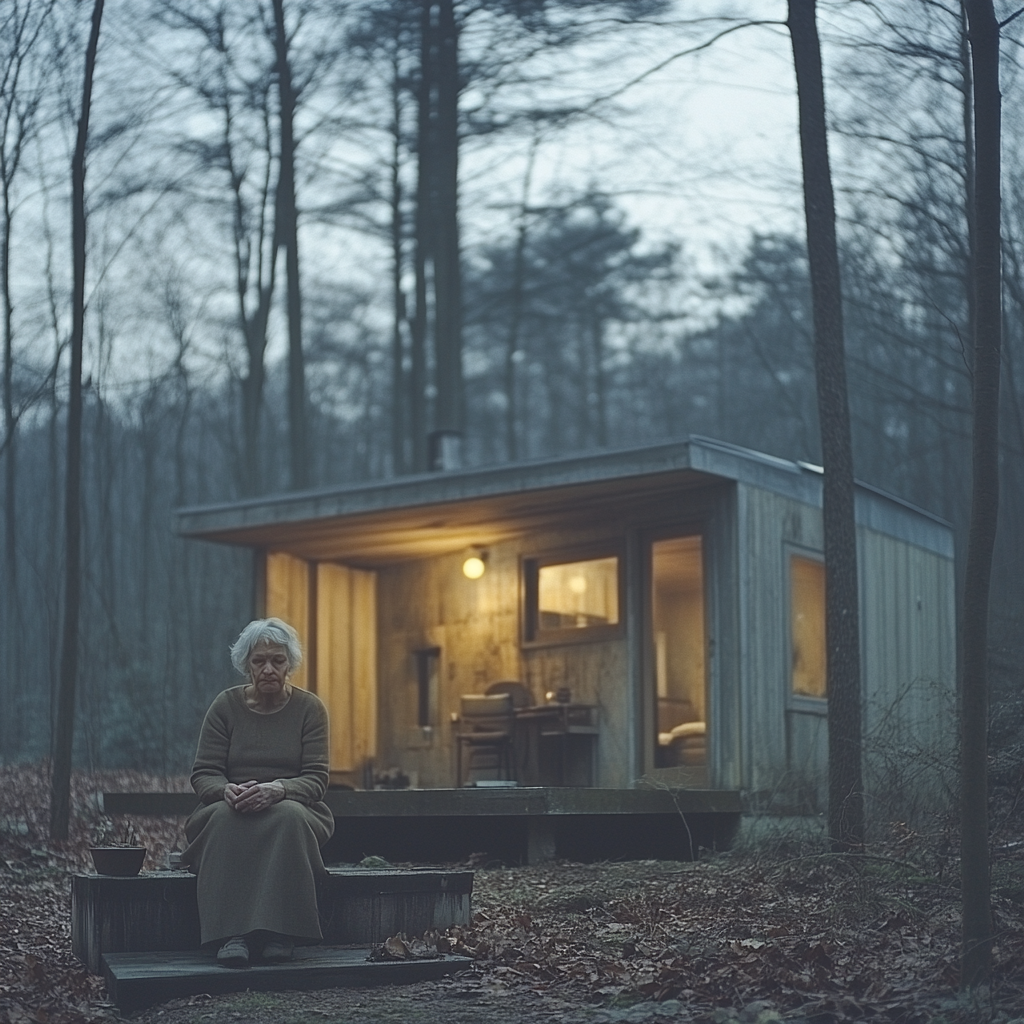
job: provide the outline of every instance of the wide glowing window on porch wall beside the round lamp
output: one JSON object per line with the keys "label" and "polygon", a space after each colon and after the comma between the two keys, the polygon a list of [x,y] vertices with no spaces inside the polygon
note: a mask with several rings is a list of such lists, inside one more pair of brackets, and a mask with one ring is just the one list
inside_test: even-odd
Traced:
{"label": "wide glowing window on porch wall beside the round lamp", "polygon": [[571,562],[528,561],[527,640],[556,640],[617,631],[618,556]]}

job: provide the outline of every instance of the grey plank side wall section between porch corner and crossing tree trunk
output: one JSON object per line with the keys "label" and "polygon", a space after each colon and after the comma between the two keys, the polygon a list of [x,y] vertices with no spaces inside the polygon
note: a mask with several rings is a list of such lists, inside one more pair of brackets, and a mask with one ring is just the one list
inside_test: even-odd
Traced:
{"label": "grey plank side wall section between porch corner and crossing tree trunk", "polygon": [[816,813],[827,797],[827,719],[791,698],[788,560],[821,552],[821,510],[742,484],[738,498],[741,785],[754,809]]}

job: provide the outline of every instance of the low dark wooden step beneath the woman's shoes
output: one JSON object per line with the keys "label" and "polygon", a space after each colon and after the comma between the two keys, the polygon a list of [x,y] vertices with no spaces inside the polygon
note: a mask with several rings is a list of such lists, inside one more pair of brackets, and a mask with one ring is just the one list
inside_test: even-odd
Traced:
{"label": "low dark wooden step beneath the woman's shoes", "polygon": [[103,977],[122,1013],[185,995],[308,990],[347,985],[396,985],[431,981],[464,971],[468,956],[376,962],[367,946],[300,946],[287,964],[255,964],[244,970],[218,966],[213,952],[104,953]]}

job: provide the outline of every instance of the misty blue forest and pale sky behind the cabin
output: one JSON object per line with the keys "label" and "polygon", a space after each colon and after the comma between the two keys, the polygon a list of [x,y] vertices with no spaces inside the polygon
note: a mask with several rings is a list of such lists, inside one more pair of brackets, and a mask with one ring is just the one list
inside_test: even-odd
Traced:
{"label": "misty blue forest and pale sky behind the cabin", "polygon": [[[752,5],[715,0],[450,6],[459,199],[444,244],[462,279],[463,463],[689,433],[820,463],[784,4],[754,5],[757,24]],[[818,6],[856,474],[949,520],[962,556],[973,317],[963,12],[956,0]],[[7,762],[46,757],[55,714],[86,7],[7,0],[0,12]],[[421,9],[108,4],[87,178],[84,767],[186,772],[209,699],[230,679],[249,556],[178,540],[174,508],[419,471],[427,433],[446,425],[443,300],[422,291],[443,272],[443,246],[435,239],[433,262],[421,263],[431,225],[417,215]],[[992,740],[1002,748],[1021,741],[1024,721],[1022,38],[1024,19],[1008,27],[1002,51],[991,605]],[[281,214],[288,153],[294,278]],[[300,285],[300,359],[290,280]]]}

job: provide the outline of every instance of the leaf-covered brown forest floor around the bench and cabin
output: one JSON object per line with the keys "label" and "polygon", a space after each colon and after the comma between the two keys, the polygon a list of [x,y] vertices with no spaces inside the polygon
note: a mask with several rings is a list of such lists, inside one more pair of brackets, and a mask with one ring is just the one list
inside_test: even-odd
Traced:
{"label": "leaf-covered brown forest floor around the bench and cabin", "polygon": [[[75,779],[71,840],[45,840],[41,766],[0,768],[0,1022],[117,1019],[71,952],[70,878],[86,866],[102,788],[166,788],[137,773]],[[174,787],[182,780],[174,780]],[[471,970],[394,988],[194,996],[136,1024],[1024,1024],[1024,827],[993,840],[992,985],[956,993],[958,844],[896,827],[856,857],[761,827],[694,863],[477,865],[473,922],[449,936]],[[155,860],[180,821],[133,818]],[[1017,835],[1014,835],[1014,834]]]}

